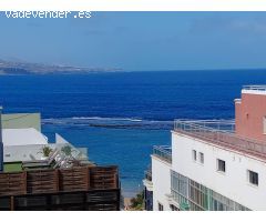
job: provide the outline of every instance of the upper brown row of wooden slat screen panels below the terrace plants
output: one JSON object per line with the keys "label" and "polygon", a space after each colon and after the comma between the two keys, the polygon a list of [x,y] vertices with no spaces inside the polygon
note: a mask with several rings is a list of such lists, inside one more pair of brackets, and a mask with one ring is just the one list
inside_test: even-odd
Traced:
{"label": "upper brown row of wooden slat screen panels below the terrace plants", "polygon": [[117,167],[76,167],[0,173],[0,196],[119,189]]}

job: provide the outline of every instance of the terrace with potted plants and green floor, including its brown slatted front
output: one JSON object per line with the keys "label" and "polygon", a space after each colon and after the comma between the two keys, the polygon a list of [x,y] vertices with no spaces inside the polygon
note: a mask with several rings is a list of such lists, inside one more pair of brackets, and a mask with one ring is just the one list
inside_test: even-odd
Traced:
{"label": "terrace with potted plants and green floor, including its brown slatted front", "polygon": [[45,160],[6,162],[1,210],[120,210],[119,169],[90,162],[71,144],[57,144]]}

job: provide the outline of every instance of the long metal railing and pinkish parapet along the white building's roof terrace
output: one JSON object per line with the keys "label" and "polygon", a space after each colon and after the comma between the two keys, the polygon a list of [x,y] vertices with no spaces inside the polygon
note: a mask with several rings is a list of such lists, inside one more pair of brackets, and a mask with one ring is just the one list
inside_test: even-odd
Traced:
{"label": "long metal railing and pinkish parapet along the white building's roof terrace", "polygon": [[266,142],[235,134],[234,125],[233,120],[175,120],[174,131],[266,159]]}

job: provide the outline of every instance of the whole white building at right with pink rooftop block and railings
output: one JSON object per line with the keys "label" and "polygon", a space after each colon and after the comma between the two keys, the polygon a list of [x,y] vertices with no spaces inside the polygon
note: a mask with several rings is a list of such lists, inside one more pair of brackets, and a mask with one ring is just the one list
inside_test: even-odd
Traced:
{"label": "whole white building at right with pink rooftop block and railings", "polygon": [[175,121],[144,180],[153,210],[266,210],[266,85],[245,87],[235,107],[235,121]]}

